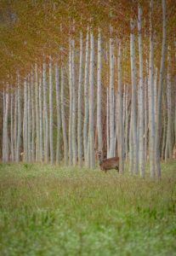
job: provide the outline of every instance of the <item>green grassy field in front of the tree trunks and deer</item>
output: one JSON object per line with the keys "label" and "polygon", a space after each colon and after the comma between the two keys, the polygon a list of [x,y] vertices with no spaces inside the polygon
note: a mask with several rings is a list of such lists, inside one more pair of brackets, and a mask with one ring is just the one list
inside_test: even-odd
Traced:
{"label": "green grassy field in front of the tree trunks and deer", "polygon": [[162,170],[0,164],[0,255],[176,255],[176,162]]}

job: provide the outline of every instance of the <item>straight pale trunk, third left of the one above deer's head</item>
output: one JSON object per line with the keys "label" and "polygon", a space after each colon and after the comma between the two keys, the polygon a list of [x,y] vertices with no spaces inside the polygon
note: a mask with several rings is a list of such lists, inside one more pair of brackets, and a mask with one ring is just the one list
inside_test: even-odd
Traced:
{"label": "straight pale trunk, third left of the one above deer's head", "polygon": [[82,167],[82,32],[80,34],[79,83],[78,83],[77,146],[78,165]]}

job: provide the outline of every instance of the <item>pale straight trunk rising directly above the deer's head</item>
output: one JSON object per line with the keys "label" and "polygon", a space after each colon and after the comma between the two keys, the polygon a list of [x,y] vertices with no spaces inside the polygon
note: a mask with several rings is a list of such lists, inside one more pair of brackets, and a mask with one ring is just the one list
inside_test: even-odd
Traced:
{"label": "pale straight trunk rising directly above the deer's head", "polygon": [[101,31],[99,28],[99,36],[98,36],[98,70],[97,70],[97,131],[98,131],[98,150],[102,151],[103,149],[103,139],[102,139],[102,120],[101,120],[101,104],[102,104],[102,92],[101,92]]}

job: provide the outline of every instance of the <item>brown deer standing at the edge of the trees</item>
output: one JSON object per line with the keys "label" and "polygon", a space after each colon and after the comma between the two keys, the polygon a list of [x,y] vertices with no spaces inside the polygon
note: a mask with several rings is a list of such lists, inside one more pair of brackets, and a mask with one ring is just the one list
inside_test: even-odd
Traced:
{"label": "brown deer standing at the edge of the trees", "polygon": [[119,157],[112,157],[102,160],[101,151],[98,151],[97,156],[99,159],[99,167],[102,171],[106,173],[108,170],[116,169],[116,171],[119,172]]}

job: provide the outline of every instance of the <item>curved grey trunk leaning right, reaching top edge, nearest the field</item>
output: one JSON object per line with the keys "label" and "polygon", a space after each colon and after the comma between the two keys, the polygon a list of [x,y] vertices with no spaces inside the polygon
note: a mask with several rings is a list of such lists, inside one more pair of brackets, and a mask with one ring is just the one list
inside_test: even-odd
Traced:
{"label": "curved grey trunk leaning right, reaching top edge, nearest the field", "polygon": [[160,127],[162,124],[162,90],[163,90],[163,79],[164,79],[164,68],[167,50],[167,10],[166,10],[166,0],[162,0],[162,59],[160,67],[160,78],[158,84],[158,97],[157,97],[157,121],[156,121],[156,175],[157,177],[162,176],[161,166],[160,166],[160,138],[161,131]]}

